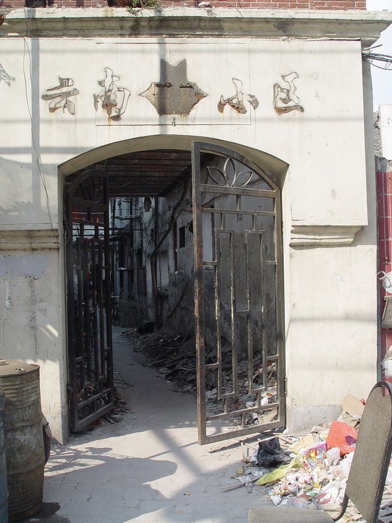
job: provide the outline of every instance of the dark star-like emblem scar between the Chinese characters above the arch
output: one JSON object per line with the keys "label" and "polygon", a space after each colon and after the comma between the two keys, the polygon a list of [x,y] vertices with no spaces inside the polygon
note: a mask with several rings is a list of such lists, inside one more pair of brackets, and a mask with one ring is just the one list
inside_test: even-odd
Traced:
{"label": "dark star-like emblem scar between the Chinese characters above the arch", "polygon": [[155,107],[158,115],[189,115],[207,94],[188,81],[186,60],[177,65],[161,60],[160,81],[153,82],[140,96]]}

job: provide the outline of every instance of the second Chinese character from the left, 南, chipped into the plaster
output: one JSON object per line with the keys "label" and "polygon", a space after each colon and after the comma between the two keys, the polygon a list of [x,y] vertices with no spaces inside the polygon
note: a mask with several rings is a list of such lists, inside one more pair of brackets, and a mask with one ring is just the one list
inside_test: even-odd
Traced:
{"label": "second Chinese character from the left, \u5357, chipped into the plaster", "polygon": [[120,120],[128,105],[131,93],[128,89],[120,87],[117,83],[120,81],[118,76],[113,75],[109,67],[105,67],[105,78],[98,81],[102,87],[99,93],[94,95],[94,107],[98,110],[98,105],[108,113],[110,120]]}

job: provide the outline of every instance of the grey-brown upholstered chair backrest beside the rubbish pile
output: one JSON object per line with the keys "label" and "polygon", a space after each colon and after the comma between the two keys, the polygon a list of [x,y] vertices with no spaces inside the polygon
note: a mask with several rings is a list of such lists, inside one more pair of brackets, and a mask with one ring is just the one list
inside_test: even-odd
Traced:
{"label": "grey-brown upholstered chair backrest beside the rubbish pile", "polygon": [[392,389],[379,381],[366,401],[345,491],[366,523],[377,521],[391,451]]}

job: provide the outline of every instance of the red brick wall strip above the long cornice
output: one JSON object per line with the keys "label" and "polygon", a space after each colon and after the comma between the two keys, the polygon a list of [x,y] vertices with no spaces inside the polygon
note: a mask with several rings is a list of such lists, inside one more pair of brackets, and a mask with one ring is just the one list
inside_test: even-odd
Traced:
{"label": "red brick wall strip above the long cornice", "polygon": [[[126,0],[0,0],[0,7],[117,7],[119,2]],[[197,7],[202,0],[161,0],[163,7]],[[233,8],[266,8],[266,9],[366,9],[365,0],[249,0],[232,2],[227,0],[211,0],[211,7]]]}

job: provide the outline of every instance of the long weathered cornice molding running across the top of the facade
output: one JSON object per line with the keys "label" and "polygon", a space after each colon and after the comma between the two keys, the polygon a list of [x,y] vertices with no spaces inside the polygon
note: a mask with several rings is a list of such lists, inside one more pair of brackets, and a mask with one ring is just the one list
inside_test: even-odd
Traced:
{"label": "long weathered cornice molding running across the top of the facade", "polygon": [[358,39],[370,46],[391,22],[391,12],[362,10],[28,8],[6,13],[0,36]]}

